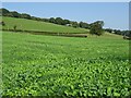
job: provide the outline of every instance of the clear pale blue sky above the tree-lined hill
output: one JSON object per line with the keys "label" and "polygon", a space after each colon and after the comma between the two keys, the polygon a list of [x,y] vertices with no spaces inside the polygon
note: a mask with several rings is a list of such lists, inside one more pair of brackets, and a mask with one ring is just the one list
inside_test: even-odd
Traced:
{"label": "clear pale blue sky above the tree-lined hill", "polygon": [[2,8],[38,17],[104,21],[105,28],[129,29],[128,2],[3,2]]}

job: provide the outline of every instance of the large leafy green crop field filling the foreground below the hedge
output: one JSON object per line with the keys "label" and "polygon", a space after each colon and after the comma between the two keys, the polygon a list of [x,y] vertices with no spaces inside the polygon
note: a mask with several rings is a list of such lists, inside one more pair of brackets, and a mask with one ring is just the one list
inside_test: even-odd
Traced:
{"label": "large leafy green crop field filling the foreground below the hedge", "polygon": [[120,36],[2,34],[3,96],[131,95],[129,41]]}

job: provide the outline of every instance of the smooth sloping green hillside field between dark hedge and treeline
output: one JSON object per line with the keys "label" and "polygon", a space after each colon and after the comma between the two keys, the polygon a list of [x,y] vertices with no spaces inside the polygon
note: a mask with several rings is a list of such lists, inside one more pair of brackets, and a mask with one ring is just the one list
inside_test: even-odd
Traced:
{"label": "smooth sloping green hillside field between dark hedge and treeline", "polygon": [[16,29],[22,30],[36,30],[36,32],[49,32],[49,33],[87,33],[88,29],[84,28],[73,28],[69,26],[61,26],[57,24],[38,22],[25,19],[14,19],[14,17],[2,17],[5,23],[4,29],[13,29],[16,25]]}

